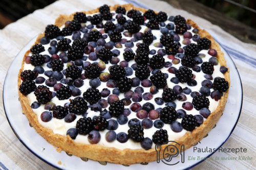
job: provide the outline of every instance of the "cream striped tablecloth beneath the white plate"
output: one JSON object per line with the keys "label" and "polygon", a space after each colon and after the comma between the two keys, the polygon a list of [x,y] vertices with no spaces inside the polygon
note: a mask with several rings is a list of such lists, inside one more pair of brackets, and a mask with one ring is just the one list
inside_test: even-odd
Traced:
{"label": "cream striped tablecloth beneath the white plate", "polygon": [[[247,153],[232,154],[232,156],[250,156],[253,159],[247,161],[206,160],[193,169],[256,169],[254,143],[256,141],[256,75],[254,72],[256,71],[256,45],[243,43],[220,27],[212,25],[209,21],[186,11],[175,9],[165,2],[152,0],[139,2],[133,0],[60,0],[11,23],[0,30],[0,96],[3,96],[6,72],[15,56],[32,38],[44,31],[48,24],[54,23],[59,14],[92,10],[103,4],[129,3],[137,7],[164,11],[168,15],[180,14],[185,18],[194,20],[223,45],[239,70],[244,92],[242,113],[236,129],[225,142],[223,148],[247,148]],[[0,100],[0,169],[55,169],[34,156],[18,140],[8,124],[3,99]],[[228,157],[230,154],[217,152],[214,156]]]}

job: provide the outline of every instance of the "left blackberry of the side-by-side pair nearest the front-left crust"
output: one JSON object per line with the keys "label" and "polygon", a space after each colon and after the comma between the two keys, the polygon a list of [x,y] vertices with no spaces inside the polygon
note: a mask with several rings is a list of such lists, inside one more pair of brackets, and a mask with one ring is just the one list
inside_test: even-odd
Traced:
{"label": "left blackberry of the side-by-side pair nearest the front-left crust", "polygon": [[93,130],[93,121],[91,117],[82,117],[77,120],[76,130],[80,135],[87,135]]}

